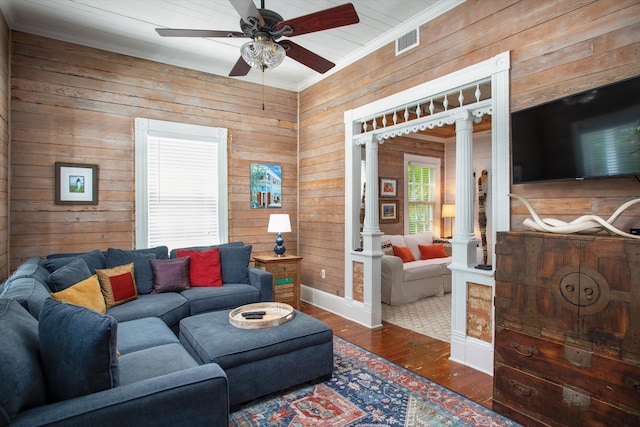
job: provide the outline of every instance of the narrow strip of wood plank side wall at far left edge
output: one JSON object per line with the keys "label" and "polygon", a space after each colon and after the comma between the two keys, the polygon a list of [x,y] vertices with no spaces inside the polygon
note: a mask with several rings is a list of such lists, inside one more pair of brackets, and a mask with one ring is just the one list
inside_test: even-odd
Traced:
{"label": "narrow strip of wood plank side wall at far left edge", "polygon": [[9,274],[10,32],[0,11],[0,280]]}

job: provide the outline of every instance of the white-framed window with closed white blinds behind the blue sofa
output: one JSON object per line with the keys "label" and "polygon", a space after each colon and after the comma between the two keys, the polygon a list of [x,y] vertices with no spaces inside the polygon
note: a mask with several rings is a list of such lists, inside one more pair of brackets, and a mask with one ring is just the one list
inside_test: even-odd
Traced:
{"label": "white-framed window with closed white blinds behind the blue sofa", "polygon": [[143,120],[136,121],[136,247],[226,242],[226,129]]}

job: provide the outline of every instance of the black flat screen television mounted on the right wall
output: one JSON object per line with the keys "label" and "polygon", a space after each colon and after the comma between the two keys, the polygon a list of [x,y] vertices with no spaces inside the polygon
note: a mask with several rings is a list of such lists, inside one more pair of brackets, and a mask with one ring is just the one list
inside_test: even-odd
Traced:
{"label": "black flat screen television mounted on the right wall", "polygon": [[640,175],[640,76],[511,114],[513,183]]}

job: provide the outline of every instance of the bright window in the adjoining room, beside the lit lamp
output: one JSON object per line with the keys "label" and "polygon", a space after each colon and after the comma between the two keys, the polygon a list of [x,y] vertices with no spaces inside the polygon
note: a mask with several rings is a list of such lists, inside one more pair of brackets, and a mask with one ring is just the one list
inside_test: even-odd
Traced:
{"label": "bright window in the adjoining room, beside the lit lamp", "polygon": [[434,168],[419,164],[407,167],[408,234],[433,231],[436,187]]}

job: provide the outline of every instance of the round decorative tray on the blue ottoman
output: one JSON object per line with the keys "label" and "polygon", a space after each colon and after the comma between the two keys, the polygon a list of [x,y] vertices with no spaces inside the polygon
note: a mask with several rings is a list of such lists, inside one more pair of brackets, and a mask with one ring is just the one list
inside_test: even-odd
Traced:
{"label": "round decorative tray on the blue ottoman", "polygon": [[231,310],[229,323],[242,329],[271,328],[287,323],[295,313],[293,307],[282,302],[258,302]]}

